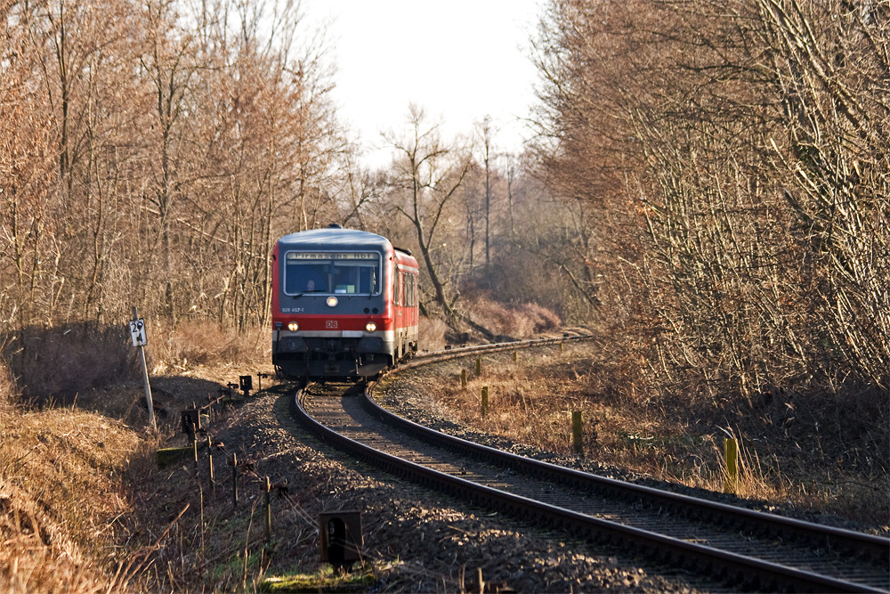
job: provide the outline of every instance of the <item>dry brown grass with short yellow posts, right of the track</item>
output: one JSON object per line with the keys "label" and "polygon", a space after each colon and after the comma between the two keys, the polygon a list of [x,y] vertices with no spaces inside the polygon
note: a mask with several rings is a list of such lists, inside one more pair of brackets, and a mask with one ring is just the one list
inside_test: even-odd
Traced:
{"label": "dry brown grass with short yellow posts, right of the track", "polygon": [[[473,362],[465,361],[467,387],[461,388],[456,369],[453,378],[433,388],[433,399],[459,424],[565,455],[572,454],[571,411],[581,411],[588,459],[713,491],[724,490],[724,439],[733,436],[740,444],[740,497],[791,502],[886,527],[886,469],[879,463],[863,467],[864,457],[838,457],[849,447],[842,435],[822,435],[821,451],[815,451],[805,449],[802,439],[789,439],[783,427],[751,419],[729,426],[724,410],[632,389],[629,367],[603,359],[591,344],[566,346],[562,353],[555,347],[524,351],[518,362],[509,354],[488,355],[481,377],[473,377]],[[483,386],[490,393],[484,418]],[[879,419],[870,422],[882,426]]]}

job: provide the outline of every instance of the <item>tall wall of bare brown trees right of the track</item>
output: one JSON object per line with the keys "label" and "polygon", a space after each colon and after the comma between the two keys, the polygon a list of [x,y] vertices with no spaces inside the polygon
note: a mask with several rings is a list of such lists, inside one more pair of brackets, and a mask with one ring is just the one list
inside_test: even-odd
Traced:
{"label": "tall wall of bare brown trees right of the track", "polygon": [[611,219],[596,259],[607,286],[631,273],[666,373],[886,385],[886,22],[880,3],[551,3],[542,170]]}

